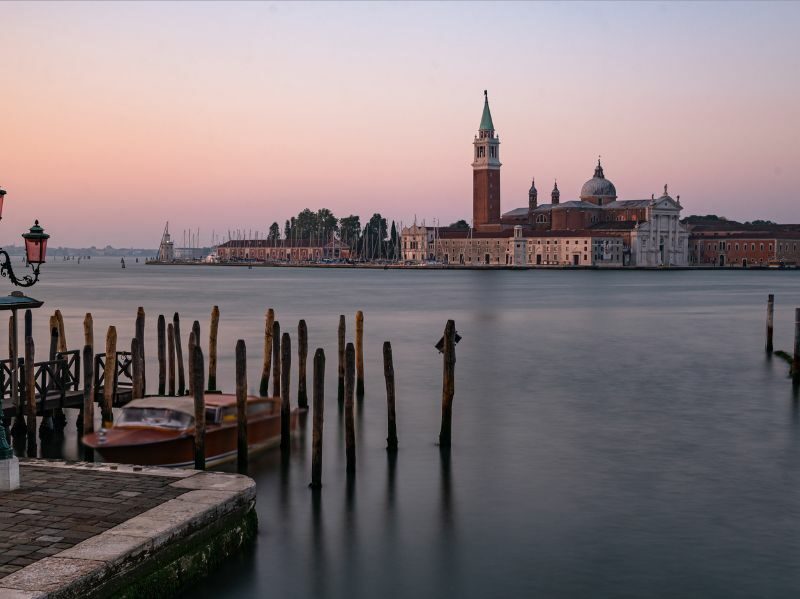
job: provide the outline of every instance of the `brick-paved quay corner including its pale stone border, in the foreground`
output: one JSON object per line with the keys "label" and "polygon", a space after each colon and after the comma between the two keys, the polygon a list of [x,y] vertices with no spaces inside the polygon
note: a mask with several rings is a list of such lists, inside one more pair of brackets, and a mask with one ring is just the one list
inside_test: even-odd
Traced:
{"label": "brick-paved quay corner including its pale stone border, in the foreground", "polygon": [[179,592],[255,534],[255,482],[25,460],[0,493],[0,598]]}

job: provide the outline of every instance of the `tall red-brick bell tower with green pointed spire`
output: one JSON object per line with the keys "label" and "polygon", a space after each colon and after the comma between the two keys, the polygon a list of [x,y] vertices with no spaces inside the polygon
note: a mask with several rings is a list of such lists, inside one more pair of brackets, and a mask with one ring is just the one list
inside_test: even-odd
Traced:
{"label": "tall red-brick bell tower with green pointed spire", "polygon": [[500,138],[495,135],[489,96],[483,90],[483,115],[472,162],[472,222],[475,228],[500,224]]}

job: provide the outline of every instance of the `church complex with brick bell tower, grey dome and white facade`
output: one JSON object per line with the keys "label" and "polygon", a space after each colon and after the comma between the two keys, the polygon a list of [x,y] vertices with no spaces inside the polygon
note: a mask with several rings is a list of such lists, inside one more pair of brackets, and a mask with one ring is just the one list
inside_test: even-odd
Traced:
{"label": "church complex with brick bell tower, grey dome and white facade", "polygon": [[550,203],[539,204],[532,182],[527,206],[501,213],[501,166],[500,139],[484,91],[473,140],[472,227],[406,227],[404,259],[484,266],[689,264],[689,232],[680,222],[680,196],[673,199],[666,185],[658,198],[620,200],[598,159],[577,200],[562,202],[556,182]]}

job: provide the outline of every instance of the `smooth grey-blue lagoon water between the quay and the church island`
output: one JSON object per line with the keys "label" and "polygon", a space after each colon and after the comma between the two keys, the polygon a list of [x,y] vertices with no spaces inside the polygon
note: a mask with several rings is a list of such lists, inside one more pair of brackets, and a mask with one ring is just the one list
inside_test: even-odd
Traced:
{"label": "smooth grey-blue lagoon water between the quay and the church island", "polygon": [[[422,272],[148,267],[54,261],[32,295],[64,312],[71,347],[91,310],[96,339],[147,312],[184,330],[222,313],[220,375],[247,341],[256,387],[263,314],[305,318],[326,378],[322,492],[310,433],[288,463],[251,465],[260,531],[192,597],[790,597],[800,592],[800,419],[787,367],[794,272]],[[344,472],[336,401],[338,315],[365,313],[358,472]],[[457,348],[454,440],[439,429],[448,318]],[[390,460],[381,346],[391,340],[400,451]],[[121,344],[123,342],[121,341]],[[310,370],[310,368],[309,368]],[[293,381],[296,391],[296,379]],[[73,416],[74,418],[74,416]],[[72,421],[64,453],[77,455]]]}

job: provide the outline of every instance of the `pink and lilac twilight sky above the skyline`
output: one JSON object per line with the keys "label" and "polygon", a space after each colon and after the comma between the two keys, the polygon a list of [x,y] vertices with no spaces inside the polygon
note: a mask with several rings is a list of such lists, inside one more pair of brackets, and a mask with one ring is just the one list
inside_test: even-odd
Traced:
{"label": "pink and lilac twilight sky above the skyline", "polygon": [[800,3],[0,3],[2,241],[155,247],[303,208],[471,218],[602,155],[620,199],[800,222]]}

